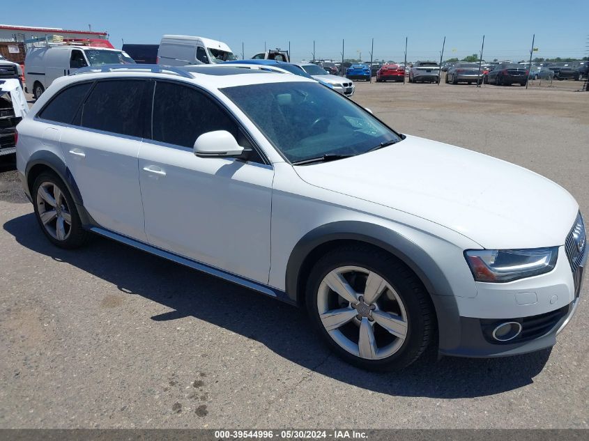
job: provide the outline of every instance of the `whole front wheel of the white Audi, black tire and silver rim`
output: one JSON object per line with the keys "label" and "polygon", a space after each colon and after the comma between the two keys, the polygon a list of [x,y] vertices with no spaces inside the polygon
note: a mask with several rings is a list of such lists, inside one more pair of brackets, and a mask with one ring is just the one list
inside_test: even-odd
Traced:
{"label": "whole front wheel of the white Audi, black tire and silver rim", "polygon": [[328,346],[362,369],[403,369],[434,336],[434,309],[420,280],[395,256],[372,247],[341,247],[319,259],[306,300]]}

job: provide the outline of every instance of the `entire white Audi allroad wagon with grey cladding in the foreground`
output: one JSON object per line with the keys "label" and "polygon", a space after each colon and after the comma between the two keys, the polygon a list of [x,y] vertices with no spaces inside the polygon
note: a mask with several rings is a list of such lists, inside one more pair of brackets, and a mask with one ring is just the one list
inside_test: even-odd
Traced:
{"label": "entire white Audi allroad wagon with grey cladding in the foreground", "polygon": [[586,233],[565,189],[395,132],[310,79],[89,67],[56,79],[17,131],[54,245],[98,233],[300,305],[365,369],[402,368],[430,344],[547,348],[579,302]]}

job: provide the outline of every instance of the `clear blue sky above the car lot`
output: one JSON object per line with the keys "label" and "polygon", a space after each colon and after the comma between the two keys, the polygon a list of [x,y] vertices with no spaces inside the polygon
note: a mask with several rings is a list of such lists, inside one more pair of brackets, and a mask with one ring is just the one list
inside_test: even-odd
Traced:
{"label": "clear blue sky above the car lot", "polygon": [[[26,6],[24,6],[26,4]],[[499,6],[498,6],[499,5]],[[115,47],[159,43],[166,33],[226,42],[241,58],[291,46],[292,61],[374,59],[439,60],[478,54],[483,59],[589,55],[589,1],[26,1],[3,15],[3,24],[107,31]],[[360,55],[361,54],[361,55]]]}

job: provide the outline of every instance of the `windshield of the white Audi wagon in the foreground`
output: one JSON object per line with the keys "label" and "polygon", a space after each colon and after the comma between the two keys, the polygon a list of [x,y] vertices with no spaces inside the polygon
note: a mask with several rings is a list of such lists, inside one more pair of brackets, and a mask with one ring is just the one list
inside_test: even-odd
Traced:
{"label": "windshield of the white Audi wagon in the foreground", "polygon": [[348,98],[316,83],[221,89],[290,162],[360,155],[400,138]]}

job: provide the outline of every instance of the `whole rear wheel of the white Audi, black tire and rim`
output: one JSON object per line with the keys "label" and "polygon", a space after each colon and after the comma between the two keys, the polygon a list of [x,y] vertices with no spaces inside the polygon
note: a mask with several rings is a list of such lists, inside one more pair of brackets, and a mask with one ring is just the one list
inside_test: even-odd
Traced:
{"label": "whole rear wheel of the white Audi, black tire and rim", "polygon": [[66,249],[87,242],[89,233],[82,228],[74,200],[56,174],[41,173],[33,183],[31,194],[37,222],[49,242]]}

